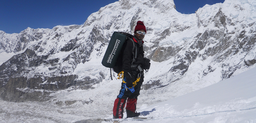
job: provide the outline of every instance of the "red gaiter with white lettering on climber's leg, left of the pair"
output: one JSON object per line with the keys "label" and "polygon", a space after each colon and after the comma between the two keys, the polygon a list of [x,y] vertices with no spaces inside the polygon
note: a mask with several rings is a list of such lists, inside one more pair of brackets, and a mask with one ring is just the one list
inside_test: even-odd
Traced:
{"label": "red gaiter with white lettering on climber's leg, left of the pair", "polygon": [[116,98],[113,108],[113,119],[123,118],[126,99]]}

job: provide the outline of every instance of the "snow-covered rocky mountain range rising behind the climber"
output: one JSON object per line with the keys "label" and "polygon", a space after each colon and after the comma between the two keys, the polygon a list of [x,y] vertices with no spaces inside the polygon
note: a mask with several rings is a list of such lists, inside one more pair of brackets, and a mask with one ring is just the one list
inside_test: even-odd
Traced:
{"label": "snow-covered rocky mountain range rising behind the climber", "polygon": [[120,80],[111,81],[101,60],[112,33],[133,34],[138,20],[146,26],[144,50],[151,59],[138,106],[255,67],[255,0],[226,0],[189,15],[177,12],[173,0],[120,0],[91,14],[84,25],[27,28],[19,34],[0,31],[1,98],[74,108],[81,103],[88,117],[111,114]]}

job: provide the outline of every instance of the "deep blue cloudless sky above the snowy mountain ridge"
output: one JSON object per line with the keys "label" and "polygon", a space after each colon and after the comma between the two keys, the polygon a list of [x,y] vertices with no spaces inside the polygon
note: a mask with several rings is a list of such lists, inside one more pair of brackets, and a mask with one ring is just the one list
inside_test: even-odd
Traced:
{"label": "deep blue cloudless sky above the snowy mountain ridge", "polygon": [[[27,27],[49,28],[57,25],[82,25],[89,15],[118,0],[0,0],[0,30],[12,34]],[[174,0],[182,14],[195,13],[206,4],[224,0]]]}

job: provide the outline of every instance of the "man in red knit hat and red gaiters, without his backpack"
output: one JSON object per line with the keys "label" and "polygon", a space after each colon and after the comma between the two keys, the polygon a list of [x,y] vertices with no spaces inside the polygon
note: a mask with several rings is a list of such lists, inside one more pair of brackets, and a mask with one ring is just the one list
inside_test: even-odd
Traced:
{"label": "man in red knit hat and red gaiters, without his backpack", "polygon": [[[147,33],[146,27],[142,21],[138,21],[134,29],[134,37],[129,39],[124,44],[123,51],[123,75],[124,82],[122,82],[121,90],[117,99],[114,102],[113,108],[113,118],[123,118],[123,112],[125,103],[126,105],[126,114],[127,118],[137,117],[140,113],[136,111],[137,97],[140,94],[140,87],[144,81],[144,71],[140,68],[144,63],[144,51],[142,41]],[[134,43],[133,43],[134,42]],[[133,47],[136,47],[136,50],[133,50]],[[137,55],[137,58],[134,60],[134,55]],[[135,82],[138,80],[138,82]],[[134,84],[134,82],[136,84]],[[127,89],[128,88],[128,89]],[[134,88],[134,92],[130,91],[129,88]]]}

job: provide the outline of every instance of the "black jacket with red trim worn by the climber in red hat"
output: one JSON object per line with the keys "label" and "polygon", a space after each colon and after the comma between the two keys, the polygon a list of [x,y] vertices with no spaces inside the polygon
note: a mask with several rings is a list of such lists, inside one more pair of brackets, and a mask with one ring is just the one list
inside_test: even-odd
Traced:
{"label": "black jacket with red trim worn by the climber in red hat", "polygon": [[[136,54],[136,48],[133,49],[133,42],[135,44],[135,47],[137,47],[137,58],[135,59],[134,62],[134,56]],[[138,69],[136,69],[135,67],[131,67],[131,65],[142,65],[144,63],[144,51],[143,51],[143,43],[144,41],[142,41],[142,45],[139,45],[138,40],[134,37],[133,39],[129,39],[127,40],[127,42],[124,44],[125,45],[125,49],[123,50],[123,71],[124,71],[124,77],[126,77],[126,79],[132,79],[132,81],[135,81],[134,79],[137,78],[138,73],[140,73],[140,71],[138,71]],[[134,53],[134,54],[133,54]]]}

